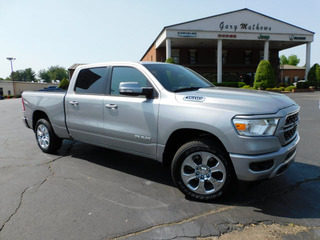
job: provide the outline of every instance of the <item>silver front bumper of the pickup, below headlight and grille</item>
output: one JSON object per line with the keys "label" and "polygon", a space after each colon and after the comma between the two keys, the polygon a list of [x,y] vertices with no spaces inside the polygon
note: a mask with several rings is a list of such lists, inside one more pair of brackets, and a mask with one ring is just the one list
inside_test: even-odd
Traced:
{"label": "silver front bumper of the pickup, below headlight and grille", "polygon": [[297,132],[296,137],[290,144],[273,153],[260,155],[231,153],[230,158],[238,179],[256,181],[273,178],[284,173],[294,161],[299,141],[300,136]]}

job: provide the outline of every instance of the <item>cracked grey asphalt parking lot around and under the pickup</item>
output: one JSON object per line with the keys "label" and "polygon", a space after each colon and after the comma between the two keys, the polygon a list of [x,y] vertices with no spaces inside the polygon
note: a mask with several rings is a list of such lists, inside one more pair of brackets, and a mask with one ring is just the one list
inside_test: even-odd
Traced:
{"label": "cracked grey asphalt parking lot around and under the pickup", "polygon": [[320,92],[288,96],[301,106],[296,162],[211,203],[148,159],[72,141],[44,154],[21,99],[2,100],[0,239],[320,239]]}

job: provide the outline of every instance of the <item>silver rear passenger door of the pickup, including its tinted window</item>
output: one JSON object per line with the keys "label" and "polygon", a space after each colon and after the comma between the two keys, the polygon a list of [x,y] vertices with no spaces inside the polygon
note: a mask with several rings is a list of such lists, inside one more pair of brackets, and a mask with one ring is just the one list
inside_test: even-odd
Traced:
{"label": "silver rear passenger door of the pickup, including its tinted window", "polygon": [[66,123],[71,136],[83,142],[104,144],[104,96],[107,67],[82,69],[74,91],[66,95]]}

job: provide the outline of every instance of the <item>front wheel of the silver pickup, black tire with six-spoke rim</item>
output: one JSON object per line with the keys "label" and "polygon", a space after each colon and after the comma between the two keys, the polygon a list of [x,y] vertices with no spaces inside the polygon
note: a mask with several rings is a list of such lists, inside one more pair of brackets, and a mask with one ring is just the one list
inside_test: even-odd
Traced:
{"label": "front wheel of the silver pickup, black tire with six-spoke rim", "polygon": [[173,157],[173,181],[187,197],[210,201],[227,195],[234,182],[233,167],[224,148],[206,139],[182,145]]}

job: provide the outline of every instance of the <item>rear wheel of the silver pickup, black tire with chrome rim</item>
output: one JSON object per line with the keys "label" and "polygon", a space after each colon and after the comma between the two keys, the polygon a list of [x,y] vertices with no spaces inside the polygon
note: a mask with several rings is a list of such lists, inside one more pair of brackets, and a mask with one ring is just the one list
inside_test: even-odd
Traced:
{"label": "rear wheel of the silver pickup, black tire with chrome rim", "polygon": [[40,149],[45,153],[57,151],[62,144],[62,139],[54,133],[51,123],[46,119],[39,119],[34,128],[36,140]]}

